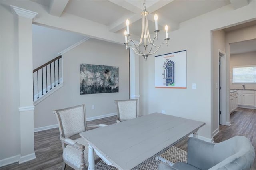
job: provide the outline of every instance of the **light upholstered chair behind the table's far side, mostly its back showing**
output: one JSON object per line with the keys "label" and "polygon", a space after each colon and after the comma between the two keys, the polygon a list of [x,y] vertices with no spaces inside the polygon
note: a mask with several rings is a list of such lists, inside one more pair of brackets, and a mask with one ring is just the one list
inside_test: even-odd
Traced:
{"label": "light upholstered chair behind the table's far side, mostly its back showing", "polygon": [[115,103],[117,107],[117,123],[138,117],[138,99],[115,100]]}

